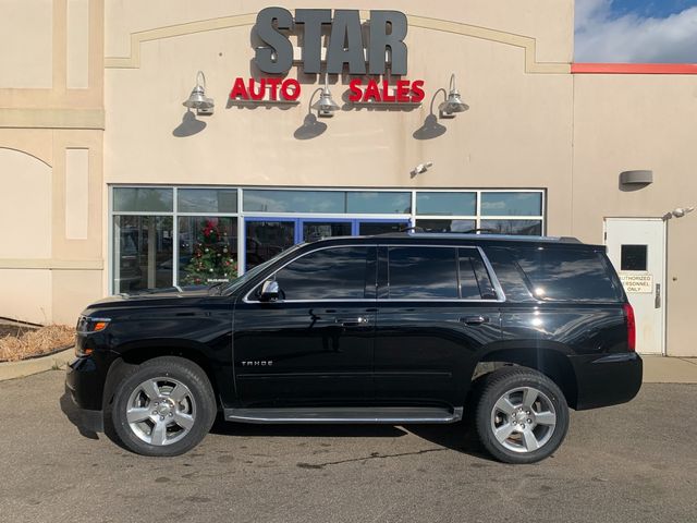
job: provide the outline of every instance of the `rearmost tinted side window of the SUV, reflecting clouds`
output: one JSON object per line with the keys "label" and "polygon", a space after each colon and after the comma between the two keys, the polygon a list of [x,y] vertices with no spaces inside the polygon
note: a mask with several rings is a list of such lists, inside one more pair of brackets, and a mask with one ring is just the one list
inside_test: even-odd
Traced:
{"label": "rearmost tinted side window of the SUV, reflecting clouds", "polygon": [[537,247],[512,250],[512,254],[538,300],[616,302],[621,297],[601,253]]}

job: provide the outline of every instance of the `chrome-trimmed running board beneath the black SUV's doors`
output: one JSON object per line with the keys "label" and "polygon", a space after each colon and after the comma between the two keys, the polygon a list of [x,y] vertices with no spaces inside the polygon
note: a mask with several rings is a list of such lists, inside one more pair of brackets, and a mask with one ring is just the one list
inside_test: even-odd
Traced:
{"label": "chrome-trimmed running board beneath the black SUV's doors", "polygon": [[363,406],[319,409],[225,409],[229,422],[283,424],[283,423],[455,423],[462,419],[463,408],[430,406]]}

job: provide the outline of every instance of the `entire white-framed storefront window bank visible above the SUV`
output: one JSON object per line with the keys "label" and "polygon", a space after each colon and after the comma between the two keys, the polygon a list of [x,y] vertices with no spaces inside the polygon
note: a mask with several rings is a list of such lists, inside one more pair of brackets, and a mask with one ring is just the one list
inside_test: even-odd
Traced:
{"label": "entire white-framed storefront window bank visible above the SUV", "polygon": [[541,235],[546,223],[541,190],[117,186],[111,202],[113,292],[227,281],[320,238],[412,226],[432,233]]}

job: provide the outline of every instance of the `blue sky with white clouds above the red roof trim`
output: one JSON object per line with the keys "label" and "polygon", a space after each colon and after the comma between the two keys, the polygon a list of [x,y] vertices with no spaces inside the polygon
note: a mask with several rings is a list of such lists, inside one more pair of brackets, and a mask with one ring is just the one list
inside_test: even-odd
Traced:
{"label": "blue sky with white clouds above the red roof trim", "polygon": [[574,61],[697,63],[697,0],[576,0]]}

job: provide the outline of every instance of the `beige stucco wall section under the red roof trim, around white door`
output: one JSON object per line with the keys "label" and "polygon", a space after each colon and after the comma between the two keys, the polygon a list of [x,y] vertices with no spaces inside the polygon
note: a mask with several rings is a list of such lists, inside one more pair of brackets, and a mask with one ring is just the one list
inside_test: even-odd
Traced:
{"label": "beige stucco wall section under the red roof trim, around white door", "polygon": [[[604,217],[660,217],[697,206],[697,76],[574,76],[573,228],[602,243]],[[620,172],[652,169],[653,183],[627,191]],[[668,223],[667,346],[697,356],[692,321],[697,212]]]}

